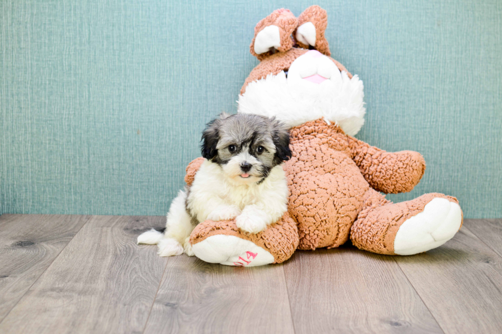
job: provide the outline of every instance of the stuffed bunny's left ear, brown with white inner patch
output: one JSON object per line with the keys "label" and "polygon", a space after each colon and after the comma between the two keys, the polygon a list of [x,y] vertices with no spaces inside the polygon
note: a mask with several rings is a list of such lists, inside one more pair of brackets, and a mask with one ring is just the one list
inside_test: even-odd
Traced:
{"label": "stuffed bunny's left ear, brown with white inner patch", "polygon": [[255,37],[249,51],[260,61],[274,53],[286,52],[293,47],[292,32],[298,26],[298,19],[288,9],[277,9],[255,27]]}

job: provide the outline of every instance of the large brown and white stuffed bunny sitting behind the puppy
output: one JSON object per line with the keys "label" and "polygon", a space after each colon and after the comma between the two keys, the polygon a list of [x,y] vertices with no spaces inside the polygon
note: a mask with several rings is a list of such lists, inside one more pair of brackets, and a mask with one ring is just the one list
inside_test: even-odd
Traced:
{"label": "large brown and white stuffed bunny sitting behind the puppy", "polygon": [[[349,238],[369,252],[411,255],[441,246],[462,226],[455,197],[430,193],[394,204],[381,193],[412,190],[425,161],[351,137],[364,123],[363,83],[329,57],[326,26],[319,6],[298,18],[279,9],[256,26],[250,52],[261,62],[241,88],[238,112],[274,116],[290,127],[288,212],[258,234],[241,232],[234,220],[202,222],[190,237],[200,259],[280,263],[296,249],[338,247]],[[187,184],[202,161],[187,167]]]}

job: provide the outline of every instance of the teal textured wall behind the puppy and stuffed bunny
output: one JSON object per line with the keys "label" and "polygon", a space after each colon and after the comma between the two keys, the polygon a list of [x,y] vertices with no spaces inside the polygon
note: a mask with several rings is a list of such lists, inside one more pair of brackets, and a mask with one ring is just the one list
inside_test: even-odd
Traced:
{"label": "teal textured wall behind the puppy and stuffed bunny", "polygon": [[[163,215],[200,131],[258,61],[280,1],[0,2],[0,213]],[[502,217],[502,2],[319,1],[332,56],[365,83],[358,138],[420,151],[401,201]]]}

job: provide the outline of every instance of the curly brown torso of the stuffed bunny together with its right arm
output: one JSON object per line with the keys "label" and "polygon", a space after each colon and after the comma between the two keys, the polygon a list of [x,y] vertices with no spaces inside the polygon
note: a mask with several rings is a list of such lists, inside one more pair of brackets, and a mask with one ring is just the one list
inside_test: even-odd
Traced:
{"label": "curly brown torso of the stuffed bunny together with its right arm", "polygon": [[307,122],[290,133],[293,156],[285,167],[291,191],[288,209],[298,222],[299,249],[345,243],[367,200],[368,180],[380,188],[411,190],[423,175],[425,163],[420,154],[407,152],[407,159],[398,160],[402,152],[369,146],[323,120]]}

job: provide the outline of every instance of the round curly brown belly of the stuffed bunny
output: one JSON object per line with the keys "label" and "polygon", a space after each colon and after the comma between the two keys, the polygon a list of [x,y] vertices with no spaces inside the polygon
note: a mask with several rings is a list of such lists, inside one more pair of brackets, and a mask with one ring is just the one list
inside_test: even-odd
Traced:
{"label": "round curly brown belly of the stuffed bunny", "polygon": [[298,223],[298,248],[331,248],[346,242],[369,189],[347,153],[309,145],[294,154],[285,170],[291,193],[288,211]]}

